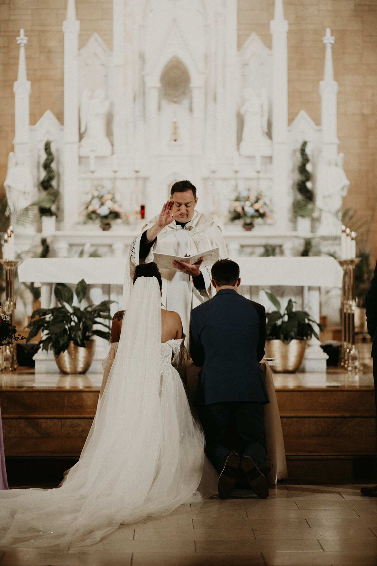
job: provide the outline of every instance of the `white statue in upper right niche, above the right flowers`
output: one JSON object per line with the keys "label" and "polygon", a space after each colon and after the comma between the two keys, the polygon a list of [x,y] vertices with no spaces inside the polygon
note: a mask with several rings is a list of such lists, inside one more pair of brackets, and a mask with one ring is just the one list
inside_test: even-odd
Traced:
{"label": "white statue in upper right niche, above the right flowers", "polygon": [[268,96],[265,89],[254,91],[245,88],[242,92],[244,104],[240,113],[244,117],[240,155],[272,155],[272,141],[267,136]]}

